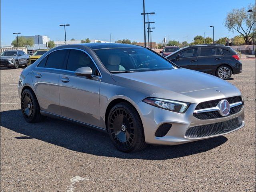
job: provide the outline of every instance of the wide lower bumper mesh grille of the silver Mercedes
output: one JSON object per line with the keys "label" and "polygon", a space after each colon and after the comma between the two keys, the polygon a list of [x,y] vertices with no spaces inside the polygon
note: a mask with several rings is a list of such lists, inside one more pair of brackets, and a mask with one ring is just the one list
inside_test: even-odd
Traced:
{"label": "wide lower bumper mesh grille of the silver Mercedes", "polygon": [[189,138],[198,138],[224,134],[237,129],[238,127],[242,126],[242,124],[242,116],[239,116],[224,122],[190,127],[185,135]]}

